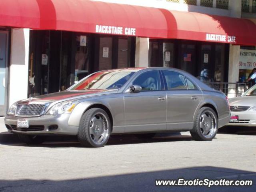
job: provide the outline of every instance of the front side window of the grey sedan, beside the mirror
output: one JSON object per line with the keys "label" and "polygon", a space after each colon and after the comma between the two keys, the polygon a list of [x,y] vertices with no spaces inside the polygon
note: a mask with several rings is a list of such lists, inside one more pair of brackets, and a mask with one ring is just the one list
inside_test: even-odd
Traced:
{"label": "front side window of the grey sedan, beside the mirror", "polygon": [[161,90],[160,75],[158,71],[144,72],[140,74],[132,84],[140,85],[142,91]]}

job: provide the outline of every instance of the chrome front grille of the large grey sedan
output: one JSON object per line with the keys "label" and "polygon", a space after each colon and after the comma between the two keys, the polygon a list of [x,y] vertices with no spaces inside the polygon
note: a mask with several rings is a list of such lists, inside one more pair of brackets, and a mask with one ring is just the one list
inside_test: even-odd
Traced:
{"label": "chrome front grille of the large grey sedan", "polygon": [[17,105],[15,116],[40,116],[45,105],[42,103],[22,103]]}

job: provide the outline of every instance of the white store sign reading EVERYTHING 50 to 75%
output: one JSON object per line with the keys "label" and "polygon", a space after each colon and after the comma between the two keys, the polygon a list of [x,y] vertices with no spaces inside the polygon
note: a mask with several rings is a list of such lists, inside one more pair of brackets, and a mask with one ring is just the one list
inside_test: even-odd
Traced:
{"label": "white store sign reading EVERYTHING 50 to 75%", "polygon": [[256,50],[240,49],[239,69],[252,70],[256,67]]}

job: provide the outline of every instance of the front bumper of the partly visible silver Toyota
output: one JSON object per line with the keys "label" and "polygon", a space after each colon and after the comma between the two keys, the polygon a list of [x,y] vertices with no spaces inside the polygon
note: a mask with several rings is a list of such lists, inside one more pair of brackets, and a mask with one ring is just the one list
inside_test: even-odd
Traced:
{"label": "front bumper of the partly visible silver Toyota", "polygon": [[227,126],[249,126],[256,127],[256,112],[242,111],[231,112],[232,116],[238,115],[238,122],[229,122]]}

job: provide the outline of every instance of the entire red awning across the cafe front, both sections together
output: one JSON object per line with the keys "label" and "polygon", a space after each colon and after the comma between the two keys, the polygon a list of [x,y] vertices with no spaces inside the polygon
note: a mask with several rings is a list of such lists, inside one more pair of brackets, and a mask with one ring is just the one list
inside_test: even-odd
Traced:
{"label": "entire red awning across the cafe front, both sections together", "polygon": [[2,0],[0,26],[256,45],[250,20],[90,0]]}

